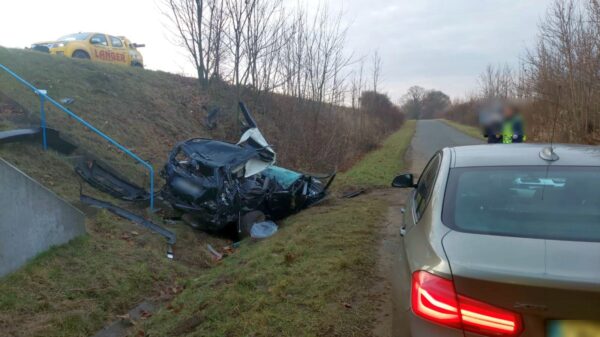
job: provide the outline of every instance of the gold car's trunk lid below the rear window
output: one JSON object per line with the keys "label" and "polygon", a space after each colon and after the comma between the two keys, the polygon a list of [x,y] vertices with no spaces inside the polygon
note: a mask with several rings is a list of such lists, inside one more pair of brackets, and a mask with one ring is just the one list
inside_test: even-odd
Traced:
{"label": "gold car's trunk lid below the rear window", "polygon": [[520,312],[529,333],[552,319],[600,319],[598,242],[452,231],[443,246],[457,293]]}

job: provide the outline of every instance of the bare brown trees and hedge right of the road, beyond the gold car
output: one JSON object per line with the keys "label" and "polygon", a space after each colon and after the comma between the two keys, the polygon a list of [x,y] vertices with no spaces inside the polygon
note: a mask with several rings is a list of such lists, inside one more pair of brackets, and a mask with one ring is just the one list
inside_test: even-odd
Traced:
{"label": "bare brown trees and hedge right of the road, beyond the gold car", "polygon": [[599,143],[600,0],[554,0],[519,72],[489,66],[479,82],[481,97],[456,104],[453,116],[473,122],[481,98],[518,98],[528,138]]}

